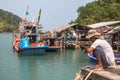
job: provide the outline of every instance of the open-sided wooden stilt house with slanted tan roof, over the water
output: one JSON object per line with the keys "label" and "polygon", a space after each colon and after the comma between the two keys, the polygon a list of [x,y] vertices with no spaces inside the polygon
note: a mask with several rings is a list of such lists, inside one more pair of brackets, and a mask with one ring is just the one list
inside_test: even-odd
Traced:
{"label": "open-sided wooden stilt house with slanted tan roof, over the water", "polygon": [[90,44],[85,38],[89,29],[91,28],[73,23],[56,28],[54,34],[62,39],[63,48],[79,49],[82,44]]}

